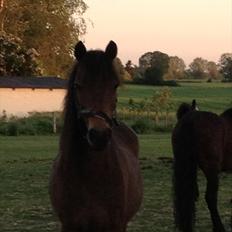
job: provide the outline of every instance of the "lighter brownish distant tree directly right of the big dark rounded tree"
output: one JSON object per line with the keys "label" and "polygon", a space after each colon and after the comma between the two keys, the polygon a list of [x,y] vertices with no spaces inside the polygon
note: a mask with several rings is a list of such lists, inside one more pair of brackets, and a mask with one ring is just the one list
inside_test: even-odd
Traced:
{"label": "lighter brownish distant tree directly right of the big dark rounded tree", "polygon": [[183,59],[179,58],[178,56],[171,56],[169,59],[168,71],[165,74],[164,79],[176,80],[184,78],[185,67],[186,65]]}

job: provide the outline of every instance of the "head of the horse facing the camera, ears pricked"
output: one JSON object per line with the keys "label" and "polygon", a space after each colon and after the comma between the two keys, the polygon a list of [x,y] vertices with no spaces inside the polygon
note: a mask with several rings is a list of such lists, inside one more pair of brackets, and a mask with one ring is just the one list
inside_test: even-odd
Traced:
{"label": "head of the horse facing the camera, ears pricked", "polygon": [[105,51],[87,51],[79,42],[74,54],[77,64],[72,88],[76,117],[85,124],[88,144],[94,149],[104,149],[111,138],[120,82],[114,64],[117,45],[110,41]]}

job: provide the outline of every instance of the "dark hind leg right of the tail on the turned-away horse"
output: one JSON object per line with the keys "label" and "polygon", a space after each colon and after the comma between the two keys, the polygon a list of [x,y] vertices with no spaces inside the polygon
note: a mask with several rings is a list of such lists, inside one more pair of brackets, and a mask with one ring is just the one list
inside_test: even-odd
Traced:
{"label": "dark hind leg right of the tail on the turned-away horse", "polygon": [[213,222],[213,231],[225,232],[217,208],[217,193],[218,193],[218,184],[219,184],[218,174],[210,173],[210,175],[207,175],[206,178],[207,178],[207,189],[206,189],[205,199]]}

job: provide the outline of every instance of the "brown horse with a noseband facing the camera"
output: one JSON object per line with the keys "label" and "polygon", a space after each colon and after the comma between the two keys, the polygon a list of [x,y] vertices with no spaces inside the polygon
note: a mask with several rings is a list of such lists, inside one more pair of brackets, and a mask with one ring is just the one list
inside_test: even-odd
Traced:
{"label": "brown horse with a noseband facing the camera", "polygon": [[62,232],[124,232],[143,195],[135,133],[115,117],[117,46],[75,47],[50,195]]}

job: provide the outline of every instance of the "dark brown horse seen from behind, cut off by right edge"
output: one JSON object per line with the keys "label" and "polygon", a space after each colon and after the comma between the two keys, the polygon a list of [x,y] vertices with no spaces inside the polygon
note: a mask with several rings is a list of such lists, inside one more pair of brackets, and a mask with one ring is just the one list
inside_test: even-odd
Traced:
{"label": "dark brown horse seen from behind, cut off by right edge", "polygon": [[192,232],[198,198],[197,167],[207,180],[205,200],[213,231],[224,232],[217,209],[219,173],[232,170],[232,108],[218,116],[197,111],[195,100],[183,103],[172,134],[174,153],[174,217],[182,232]]}

